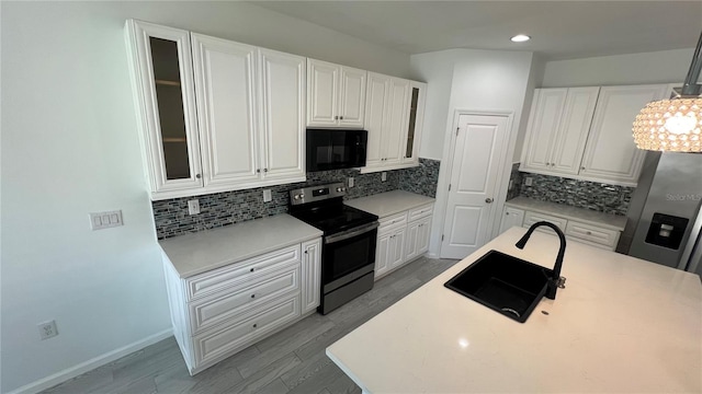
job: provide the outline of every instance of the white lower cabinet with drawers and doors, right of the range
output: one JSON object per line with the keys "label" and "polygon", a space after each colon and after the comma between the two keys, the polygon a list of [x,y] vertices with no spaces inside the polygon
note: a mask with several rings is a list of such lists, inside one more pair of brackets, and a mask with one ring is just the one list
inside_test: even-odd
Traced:
{"label": "white lower cabinet with drawers and doors, right of the range", "polygon": [[433,204],[429,204],[378,220],[375,279],[429,250],[432,212]]}

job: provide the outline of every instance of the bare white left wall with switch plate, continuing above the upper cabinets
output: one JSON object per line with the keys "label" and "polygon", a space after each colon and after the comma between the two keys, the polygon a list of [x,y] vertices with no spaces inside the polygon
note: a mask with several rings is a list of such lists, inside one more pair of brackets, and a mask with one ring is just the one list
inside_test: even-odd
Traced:
{"label": "bare white left wall with switch plate, continuing above the upper cabinets", "polygon": [[[170,329],[123,38],[127,18],[400,77],[409,70],[404,54],[248,3],[1,8],[3,393],[42,389]],[[90,231],[88,212],[112,209],[123,210],[125,225]],[[36,324],[47,320],[59,335],[39,340]]]}

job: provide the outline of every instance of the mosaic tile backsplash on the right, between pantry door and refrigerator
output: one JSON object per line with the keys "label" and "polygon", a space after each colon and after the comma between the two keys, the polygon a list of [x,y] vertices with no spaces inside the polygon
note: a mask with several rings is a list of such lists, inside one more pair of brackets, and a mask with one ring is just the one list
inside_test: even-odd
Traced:
{"label": "mosaic tile backsplash on the right, between pantry door and refrigerator", "polygon": [[[634,192],[633,187],[559,176],[520,173],[518,177],[520,196],[621,216],[626,215]],[[522,182],[525,177],[532,178],[531,186]]]}

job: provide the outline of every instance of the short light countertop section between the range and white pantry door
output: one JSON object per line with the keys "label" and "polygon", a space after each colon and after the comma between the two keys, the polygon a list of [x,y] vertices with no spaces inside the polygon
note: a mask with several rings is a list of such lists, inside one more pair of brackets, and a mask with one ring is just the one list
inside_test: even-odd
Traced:
{"label": "short light countertop section between the range and white pantry door", "polygon": [[385,218],[412,208],[433,202],[434,199],[404,190],[393,190],[369,197],[346,200],[343,204]]}

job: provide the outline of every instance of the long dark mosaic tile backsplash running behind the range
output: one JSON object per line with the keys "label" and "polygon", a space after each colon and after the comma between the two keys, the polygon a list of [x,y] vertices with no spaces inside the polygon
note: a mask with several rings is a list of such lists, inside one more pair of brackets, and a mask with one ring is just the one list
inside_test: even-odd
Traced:
{"label": "long dark mosaic tile backsplash running behind the range", "polygon": [[[346,182],[350,176],[354,178],[354,187],[348,189],[346,199],[400,188],[434,197],[440,162],[428,159],[419,159],[419,161],[418,167],[388,171],[385,182],[381,181],[382,173],[380,172],[361,174],[355,170],[320,171],[307,173],[307,181],[301,183],[152,201],[156,234],[159,240],[162,240],[284,213],[287,212],[290,190],[332,182]],[[271,189],[272,200],[270,202],[263,202],[263,189]],[[190,216],[188,215],[188,200],[193,198],[200,200],[200,215]]]}

